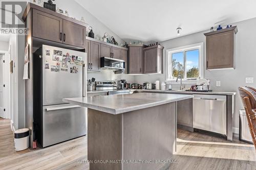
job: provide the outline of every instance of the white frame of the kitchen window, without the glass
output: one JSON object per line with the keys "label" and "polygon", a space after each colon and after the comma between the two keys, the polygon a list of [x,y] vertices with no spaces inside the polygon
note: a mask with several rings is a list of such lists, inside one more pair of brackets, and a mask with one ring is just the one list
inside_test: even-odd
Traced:
{"label": "white frame of the kitchen window, without the glass", "polygon": [[[199,77],[202,79],[204,78],[204,43],[196,43],[196,44],[190,44],[185,46],[180,46],[177,48],[171,48],[166,50],[166,76],[165,76],[165,82],[167,83],[176,83],[176,78],[173,77],[173,66],[172,66],[172,55],[174,53],[184,53],[184,76],[185,78],[182,79],[183,83],[186,84],[194,84],[197,82],[197,80],[188,80],[193,78],[186,78],[186,51],[193,51],[193,50],[199,50]],[[195,78],[194,78],[195,79]],[[180,82],[178,82],[180,83]]]}

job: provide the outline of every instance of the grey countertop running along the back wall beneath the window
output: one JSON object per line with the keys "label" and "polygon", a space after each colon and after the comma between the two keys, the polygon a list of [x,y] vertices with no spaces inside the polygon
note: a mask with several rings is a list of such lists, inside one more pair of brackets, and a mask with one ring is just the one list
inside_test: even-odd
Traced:
{"label": "grey countertop running along the back wall beneath the window", "polygon": [[[200,92],[200,91],[151,90],[151,89],[123,89],[123,90],[144,91],[144,92],[161,92],[161,93],[236,95],[236,92],[223,92],[223,91]],[[113,91],[113,90],[95,90],[95,91],[87,91],[87,93],[103,93],[103,92],[108,92],[108,91]]]}

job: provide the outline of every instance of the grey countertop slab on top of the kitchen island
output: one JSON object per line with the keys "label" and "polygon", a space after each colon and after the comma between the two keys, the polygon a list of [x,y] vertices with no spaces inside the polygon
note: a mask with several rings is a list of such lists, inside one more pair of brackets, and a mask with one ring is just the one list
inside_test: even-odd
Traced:
{"label": "grey countertop slab on top of the kitchen island", "polygon": [[194,98],[194,96],[185,94],[134,93],[86,98],[67,98],[63,99],[63,102],[106,113],[120,114],[190,98]]}

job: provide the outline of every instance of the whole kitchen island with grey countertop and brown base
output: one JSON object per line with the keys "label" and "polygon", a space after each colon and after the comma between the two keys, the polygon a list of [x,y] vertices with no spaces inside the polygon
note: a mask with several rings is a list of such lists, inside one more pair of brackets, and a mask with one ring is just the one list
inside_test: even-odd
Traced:
{"label": "whole kitchen island with grey countertop and brown base", "polygon": [[63,99],[88,108],[90,169],[165,169],[176,152],[176,102],[193,95],[135,93]]}

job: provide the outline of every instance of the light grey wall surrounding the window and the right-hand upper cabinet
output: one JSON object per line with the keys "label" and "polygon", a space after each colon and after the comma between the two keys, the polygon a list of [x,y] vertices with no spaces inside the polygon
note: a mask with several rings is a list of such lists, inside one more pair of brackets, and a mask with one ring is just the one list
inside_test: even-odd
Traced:
{"label": "light grey wall surrounding the window and the right-hand upper cabinet", "polygon": [[[254,28],[256,27],[256,18],[233,23],[233,26],[238,27],[238,33],[236,35],[236,69],[233,70],[215,70],[207,71],[204,70],[204,78],[210,80],[211,89],[216,91],[227,91],[227,92],[238,92],[237,88],[239,86],[252,86],[256,87],[256,82],[245,83],[246,77],[256,78],[255,63],[256,63],[256,34],[254,33]],[[165,81],[165,55],[166,50],[170,48],[175,48],[179,46],[195,44],[199,42],[204,42],[205,47],[205,36],[203,33],[199,32],[196,34],[191,34],[175,39],[170,39],[167,41],[160,42],[164,46],[163,52],[163,67],[164,74],[161,75],[151,75],[151,76],[136,76],[135,81],[137,83],[143,82],[155,82],[156,80]],[[205,50],[204,50],[205,53]],[[205,56],[205,54],[204,54]],[[221,87],[216,87],[216,81],[221,81]],[[174,88],[178,89],[179,85],[173,85]],[[186,85],[189,88],[190,85]],[[167,87],[167,86],[166,86]],[[239,110],[243,109],[243,105],[239,96],[236,95],[236,109],[234,115],[233,126],[239,128]]]}

